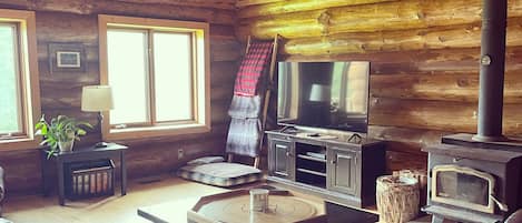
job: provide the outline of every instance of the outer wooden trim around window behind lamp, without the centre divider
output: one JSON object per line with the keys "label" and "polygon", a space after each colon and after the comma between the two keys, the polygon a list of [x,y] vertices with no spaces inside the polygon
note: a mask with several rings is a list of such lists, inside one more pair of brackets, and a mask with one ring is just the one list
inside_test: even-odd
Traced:
{"label": "outer wooden trim around window behind lamp, without the centre divider", "polygon": [[[104,123],[101,128],[102,139],[126,140],[150,136],[166,136],[189,133],[203,133],[210,131],[210,47],[209,47],[209,24],[206,22],[189,22],[164,19],[149,19],[120,16],[98,16],[99,31],[99,62],[100,62],[100,84],[108,84],[108,54],[107,54],[107,30],[110,27],[118,28],[145,28],[155,30],[178,30],[193,31],[196,33],[196,71],[195,99],[196,122],[173,125],[132,126],[125,129],[112,129],[110,126],[109,112],[104,112]],[[203,79],[203,80],[201,80]],[[204,109],[200,109],[204,108]]]}

